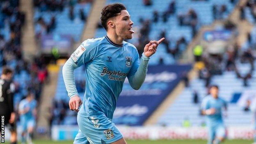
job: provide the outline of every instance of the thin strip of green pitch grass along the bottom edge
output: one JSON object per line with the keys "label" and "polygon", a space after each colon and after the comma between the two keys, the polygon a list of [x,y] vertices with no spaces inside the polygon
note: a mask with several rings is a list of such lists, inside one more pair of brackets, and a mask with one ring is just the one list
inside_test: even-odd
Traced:
{"label": "thin strip of green pitch grass along the bottom edge", "polygon": [[[73,141],[34,140],[34,144],[73,144]],[[251,144],[252,140],[227,140],[222,144]],[[206,144],[206,140],[127,140],[128,144]],[[20,143],[19,143],[20,144]]]}

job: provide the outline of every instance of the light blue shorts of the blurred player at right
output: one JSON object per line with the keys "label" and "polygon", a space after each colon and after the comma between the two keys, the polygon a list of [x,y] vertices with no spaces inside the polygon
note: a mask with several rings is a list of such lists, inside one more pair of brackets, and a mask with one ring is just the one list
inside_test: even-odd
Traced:
{"label": "light blue shorts of the blurred player at right", "polygon": [[226,128],[223,123],[208,128],[208,144],[212,144],[215,137],[226,137]]}

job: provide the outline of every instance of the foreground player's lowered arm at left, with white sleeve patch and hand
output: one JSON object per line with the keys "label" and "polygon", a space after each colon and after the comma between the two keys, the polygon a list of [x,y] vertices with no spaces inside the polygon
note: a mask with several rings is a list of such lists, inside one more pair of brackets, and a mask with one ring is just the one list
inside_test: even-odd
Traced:
{"label": "foreground player's lowered arm at left, with white sleeve patch and hand", "polygon": [[82,105],[82,101],[75,87],[74,70],[94,59],[98,51],[97,45],[95,45],[96,43],[93,42],[94,40],[88,39],[81,43],[62,68],[64,83],[70,98],[69,108],[70,110],[76,110],[77,112],[79,111],[80,105]]}

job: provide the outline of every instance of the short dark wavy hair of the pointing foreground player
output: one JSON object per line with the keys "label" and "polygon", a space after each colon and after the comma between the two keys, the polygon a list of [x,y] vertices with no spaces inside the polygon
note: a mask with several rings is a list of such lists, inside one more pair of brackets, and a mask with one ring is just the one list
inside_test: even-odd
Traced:
{"label": "short dark wavy hair of the pointing foreground player", "polygon": [[107,30],[107,20],[119,15],[122,10],[126,10],[126,7],[120,3],[114,3],[103,7],[101,10],[101,25],[105,30]]}

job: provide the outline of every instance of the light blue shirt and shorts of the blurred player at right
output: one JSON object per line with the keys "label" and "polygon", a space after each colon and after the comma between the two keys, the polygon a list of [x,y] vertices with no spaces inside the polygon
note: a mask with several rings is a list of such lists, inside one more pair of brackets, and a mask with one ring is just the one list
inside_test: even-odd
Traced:
{"label": "light blue shirt and shorts of the blurred player at right", "polygon": [[222,98],[213,98],[206,96],[203,98],[201,109],[215,109],[215,114],[206,115],[206,123],[208,126],[208,144],[213,144],[215,137],[226,137],[226,130],[222,119],[222,109],[227,107],[226,101]]}

